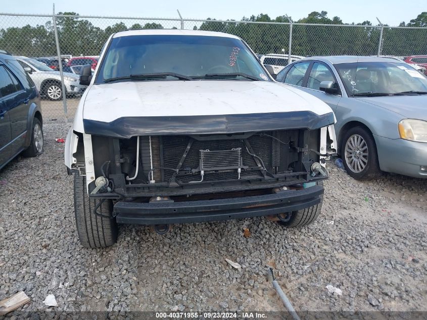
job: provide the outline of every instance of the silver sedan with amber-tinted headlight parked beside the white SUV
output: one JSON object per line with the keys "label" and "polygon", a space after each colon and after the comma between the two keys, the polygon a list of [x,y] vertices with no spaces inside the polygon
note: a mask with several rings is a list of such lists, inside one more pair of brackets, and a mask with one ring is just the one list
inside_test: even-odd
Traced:
{"label": "silver sedan with amber-tinted headlight parked beside the white SUV", "polygon": [[312,57],[277,81],[298,86],[335,112],[338,151],[356,179],[381,171],[427,178],[427,78],[394,59]]}

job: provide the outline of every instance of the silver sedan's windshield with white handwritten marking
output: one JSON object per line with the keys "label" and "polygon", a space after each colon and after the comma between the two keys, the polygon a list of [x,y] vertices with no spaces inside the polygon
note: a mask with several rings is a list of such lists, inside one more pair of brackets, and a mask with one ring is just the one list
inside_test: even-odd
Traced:
{"label": "silver sedan's windshield with white handwritten marking", "polygon": [[427,92],[427,78],[406,63],[354,62],[335,67],[349,96]]}

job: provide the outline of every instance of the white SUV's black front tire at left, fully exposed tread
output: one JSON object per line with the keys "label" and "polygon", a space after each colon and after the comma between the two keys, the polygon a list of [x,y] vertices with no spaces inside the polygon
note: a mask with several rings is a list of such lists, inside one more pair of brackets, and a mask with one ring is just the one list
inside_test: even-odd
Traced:
{"label": "white SUV's black front tire at left, fully exposed tread", "polygon": [[87,196],[86,177],[75,173],[74,214],[77,234],[85,248],[105,248],[117,242],[117,222],[111,218],[113,203],[109,199],[101,203],[97,212],[103,216],[93,213],[93,208],[99,203],[100,199],[89,199]]}

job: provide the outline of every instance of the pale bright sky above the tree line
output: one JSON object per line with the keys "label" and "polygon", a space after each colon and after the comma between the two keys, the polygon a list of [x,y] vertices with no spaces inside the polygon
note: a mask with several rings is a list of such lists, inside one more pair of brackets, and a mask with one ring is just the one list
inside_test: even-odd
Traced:
{"label": "pale bright sky above the tree line", "polygon": [[[52,0],[2,1],[0,11],[3,13],[51,14]],[[80,15],[93,16],[131,16],[131,17],[167,17],[178,18],[178,9],[183,18],[218,20],[250,17],[260,13],[275,18],[288,14],[293,20],[307,17],[313,11],[327,11],[328,17],[340,17],[344,23],[369,20],[377,24],[376,17],[383,24],[391,26],[414,19],[418,14],[427,11],[427,0],[191,0],[158,2],[144,0],[72,0],[56,1],[56,12],[74,11]]]}

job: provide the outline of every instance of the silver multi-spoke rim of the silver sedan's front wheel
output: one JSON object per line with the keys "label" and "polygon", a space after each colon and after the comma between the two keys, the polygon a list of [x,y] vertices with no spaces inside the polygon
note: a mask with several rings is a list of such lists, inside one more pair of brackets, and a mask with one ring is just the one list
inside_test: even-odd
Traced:
{"label": "silver multi-spoke rim of the silver sedan's front wheel", "polygon": [[360,134],[353,134],[346,142],[346,163],[355,173],[362,172],[368,163],[368,146]]}

